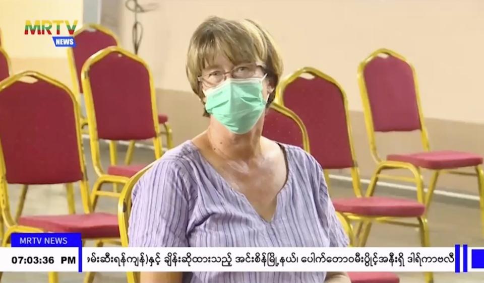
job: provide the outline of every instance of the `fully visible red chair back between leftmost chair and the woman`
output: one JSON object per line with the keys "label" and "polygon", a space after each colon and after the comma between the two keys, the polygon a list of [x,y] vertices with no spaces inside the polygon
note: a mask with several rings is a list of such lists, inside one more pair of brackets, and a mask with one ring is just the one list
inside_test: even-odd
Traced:
{"label": "fully visible red chair back between leftmost chair and the woman", "polygon": [[147,64],[119,47],[108,47],[86,61],[82,82],[90,125],[111,140],[155,137],[155,91]]}

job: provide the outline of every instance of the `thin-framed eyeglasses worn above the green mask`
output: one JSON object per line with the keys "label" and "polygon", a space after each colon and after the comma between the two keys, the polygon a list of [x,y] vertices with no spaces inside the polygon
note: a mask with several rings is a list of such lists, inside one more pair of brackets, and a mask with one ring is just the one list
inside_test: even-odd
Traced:
{"label": "thin-framed eyeglasses worn above the green mask", "polygon": [[210,73],[198,77],[199,82],[205,83],[207,87],[215,87],[225,81],[226,75],[230,74],[233,79],[249,79],[254,77],[257,68],[261,68],[265,73],[264,67],[256,63],[239,64],[228,72],[222,69],[212,70]]}

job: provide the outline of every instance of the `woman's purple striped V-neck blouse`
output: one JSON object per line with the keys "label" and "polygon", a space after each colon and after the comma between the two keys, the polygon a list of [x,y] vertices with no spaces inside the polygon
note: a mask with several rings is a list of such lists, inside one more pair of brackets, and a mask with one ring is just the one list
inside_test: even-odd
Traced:
{"label": "woman's purple striped V-neck blouse", "polygon": [[[166,152],[133,190],[132,247],[344,247],[317,161],[281,145],[288,177],[266,222],[234,191],[191,141]],[[184,283],[322,283],[325,272],[193,272]]]}

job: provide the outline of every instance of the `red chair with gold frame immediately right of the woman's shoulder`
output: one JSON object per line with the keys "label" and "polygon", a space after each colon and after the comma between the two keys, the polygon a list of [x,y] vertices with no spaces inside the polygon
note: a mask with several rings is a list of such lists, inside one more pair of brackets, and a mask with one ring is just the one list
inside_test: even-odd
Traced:
{"label": "red chair with gold frame immediately right of the woman's shoulder", "polygon": [[[362,224],[365,224],[358,245],[366,244],[371,225],[377,221],[418,227],[422,246],[430,246],[423,203],[411,199],[378,197],[373,194],[362,196],[351,140],[346,95],[334,79],[315,68],[301,68],[279,83],[275,101],[291,109],[304,122],[308,130],[311,154],[325,171],[351,170],[355,197],[333,198],[332,201],[336,211],[345,221],[354,220],[360,223],[356,231],[357,236],[361,234],[358,232],[363,228]],[[400,220],[412,218],[417,219],[418,224]],[[355,239],[351,241],[353,243]],[[432,273],[426,273],[426,281],[433,281]]]}

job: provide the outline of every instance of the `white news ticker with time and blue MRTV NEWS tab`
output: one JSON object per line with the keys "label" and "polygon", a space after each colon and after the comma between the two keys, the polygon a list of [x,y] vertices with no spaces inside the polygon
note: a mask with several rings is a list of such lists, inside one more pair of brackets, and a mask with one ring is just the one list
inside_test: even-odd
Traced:
{"label": "white news ticker with time and blue MRTV NEWS tab", "polygon": [[393,271],[483,272],[484,248],[82,247],[78,233],[16,233],[0,271]]}

